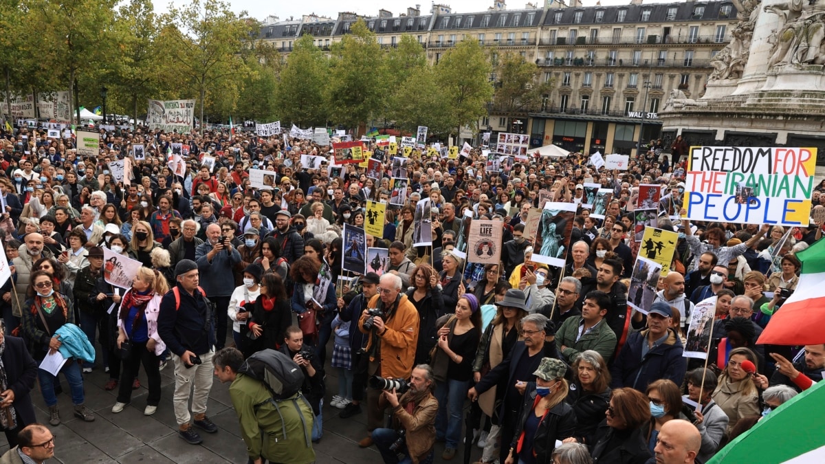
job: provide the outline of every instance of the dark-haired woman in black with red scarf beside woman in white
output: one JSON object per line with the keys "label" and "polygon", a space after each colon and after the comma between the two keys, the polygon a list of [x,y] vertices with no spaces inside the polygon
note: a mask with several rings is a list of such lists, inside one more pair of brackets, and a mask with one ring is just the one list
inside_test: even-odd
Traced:
{"label": "dark-haired woman in black with red scarf beside woman in white", "polygon": [[247,344],[247,353],[278,349],[284,341],[284,330],[292,323],[290,301],[281,277],[275,272],[267,272],[262,275],[259,285],[261,295],[252,302],[252,307],[247,307],[252,338]]}

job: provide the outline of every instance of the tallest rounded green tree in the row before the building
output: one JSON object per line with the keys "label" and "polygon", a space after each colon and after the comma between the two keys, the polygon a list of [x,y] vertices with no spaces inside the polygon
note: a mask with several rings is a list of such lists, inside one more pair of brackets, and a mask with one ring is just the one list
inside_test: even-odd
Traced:
{"label": "tallest rounded green tree in the row before the building", "polygon": [[363,20],[332,46],[327,84],[332,119],[348,127],[369,122],[386,97],[384,53]]}

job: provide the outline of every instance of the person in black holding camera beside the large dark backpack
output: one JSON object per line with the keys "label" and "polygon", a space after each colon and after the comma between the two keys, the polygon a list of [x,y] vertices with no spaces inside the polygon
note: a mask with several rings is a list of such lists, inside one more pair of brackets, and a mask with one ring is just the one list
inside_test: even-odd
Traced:
{"label": "person in black holding camera beside the large dark backpack", "polygon": [[290,325],[284,331],[284,344],[280,348],[281,353],[292,358],[295,364],[304,371],[304,385],[301,386],[301,393],[312,406],[312,414],[315,416],[312,427],[312,441],[318,443],[323,435],[323,395],[326,387],[323,383],[323,366],[315,357],[315,348],[304,344],[304,333],[297,325]]}

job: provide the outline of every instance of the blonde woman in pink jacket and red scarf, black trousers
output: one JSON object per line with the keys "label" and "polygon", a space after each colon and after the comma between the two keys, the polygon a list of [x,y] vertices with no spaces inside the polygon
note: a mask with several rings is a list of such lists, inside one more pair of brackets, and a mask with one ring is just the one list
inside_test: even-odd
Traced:
{"label": "blonde woman in pink jacket and red scarf, black trousers", "polygon": [[144,365],[149,389],[144,415],[152,415],[158,410],[160,355],[166,350],[166,344],[158,334],[158,314],[160,302],[167,291],[169,286],[166,279],[158,271],[139,268],[132,281],[132,288],[120,300],[117,348],[120,350],[123,369],[120,372],[117,402],[111,408],[113,413],[119,413],[129,404],[132,397],[130,380],[138,375],[140,364]]}

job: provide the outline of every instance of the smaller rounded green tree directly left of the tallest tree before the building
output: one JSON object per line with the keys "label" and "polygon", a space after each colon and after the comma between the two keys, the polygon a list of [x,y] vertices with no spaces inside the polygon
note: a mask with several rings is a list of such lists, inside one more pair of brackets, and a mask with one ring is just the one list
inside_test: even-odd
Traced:
{"label": "smaller rounded green tree directly left of the tallest tree before the building", "polygon": [[276,92],[281,120],[301,127],[327,125],[329,107],[325,88],[329,80],[327,56],[315,46],[314,37],[306,34],[295,40]]}

